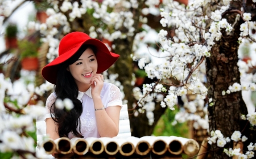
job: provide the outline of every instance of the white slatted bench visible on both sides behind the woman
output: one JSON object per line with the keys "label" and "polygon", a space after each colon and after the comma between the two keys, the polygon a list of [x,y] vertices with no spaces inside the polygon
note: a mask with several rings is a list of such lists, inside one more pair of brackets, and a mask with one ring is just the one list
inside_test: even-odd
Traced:
{"label": "white slatted bench visible on both sides behind the woman", "polygon": [[[44,119],[37,120],[36,121],[36,136],[37,136],[38,143],[40,143],[40,141],[43,141],[43,137],[46,135],[47,135],[46,134],[46,122],[44,122]],[[122,137],[122,138],[127,138],[127,137],[131,136],[127,104],[122,105],[122,109],[120,111],[119,132],[118,132],[117,136]]]}

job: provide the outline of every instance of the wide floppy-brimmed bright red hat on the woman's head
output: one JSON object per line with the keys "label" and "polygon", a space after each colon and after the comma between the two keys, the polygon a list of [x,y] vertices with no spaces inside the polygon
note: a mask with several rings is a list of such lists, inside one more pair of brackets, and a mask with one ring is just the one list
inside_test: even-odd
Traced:
{"label": "wide floppy-brimmed bright red hat on the woman's head", "polygon": [[97,40],[96,38],[90,38],[88,35],[86,35],[86,33],[68,33],[60,41],[59,57],[55,58],[52,62],[48,63],[48,65],[44,66],[42,70],[43,78],[49,81],[49,83],[55,84],[59,64],[72,57],[72,55],[75,54],[83,44],[93,45],[97,48],[97,74],[108,70],[108,68],[112,66],[119,58],[119,55],[110,52],[103,42]]}

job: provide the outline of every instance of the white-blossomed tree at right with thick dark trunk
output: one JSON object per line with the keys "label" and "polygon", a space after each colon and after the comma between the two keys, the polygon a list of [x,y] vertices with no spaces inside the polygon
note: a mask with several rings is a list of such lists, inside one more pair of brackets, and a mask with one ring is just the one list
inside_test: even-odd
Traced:
{"label": "white-blossomed tree at right with thick dark trunk", "polygon": [[[241,87],[240,76],[246,76],[246,73],[237,63],[238,47],[241,42],[255,42],[251,32],[251,29],[255,29],[254,2],[191,1],[186,7],[173,1],[163,3],[160,23],[167,29],[159,32],[159,46],[166,57],[166,62],[158,66],[152,63],[147,66],[141,65],[148,76],[160,80],[158,84],[146,85],[143,89],[146,92],[144,94],[154,91],[153,89],[156,89],[155,92],[166,91],[161,84],[168,85],[168,95],[161,105],[174,109],[177,96],[192,91],[197,94],[196,100],[193,101],[193,105],[185,105],[190,113],[193,113],[191,106],[195,106],[195,103],[199,107],[202,105],[200,103],[209,102],[209,131],[212,132],[212,137],[208,140],[209,144],[212,144],[211,150],[214,150],[212,157],[228,158],[222,156],[221,148],[230,148],[233,144],[230,144],[229,138],[224,137],[231,136],[236,145],[236,142],[241,140],[242,133],[248,137],[248,140],[247,137],[242,137],[242,141],[245,141],[248,147],[236,151],[248,151],[240,157],[251,158],[254,152],[250,152],[253,150],[250,145],[255,143],[255,132],[249,127],[250,124],[255,125],[255,119],[251,119],[255,117],[255,113],[247,115],[249,121],[244,120],[247,108],[242,100],[241,89],[255,91],[255,79]],[[171,27],[174,28],[173,32],[170,31]],[[203,65],[206,65],[206,70]],[[201,72],[207,76],[206,81],[204,78],[200,79]],[[170,78],[177,79],[180,83],[172,83]],[[144,99],[141,98],[140,102],[146,102]],[[200,124],[199,118],[196,121]],[[236,151],[224,152],[233,156],[237,155]]]}

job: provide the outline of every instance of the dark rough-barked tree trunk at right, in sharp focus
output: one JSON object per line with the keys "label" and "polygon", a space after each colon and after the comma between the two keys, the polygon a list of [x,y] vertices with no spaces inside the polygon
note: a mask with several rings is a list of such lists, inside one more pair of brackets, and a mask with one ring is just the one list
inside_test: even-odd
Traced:
{"label": "dark rough-barked tree trunk at right, in sharp focus", "polygon": [[[233,24],[236,14],[225,16],[229,23]],[[214,105],[208,107],[209,130],[220,130],[224,137],[231,137],[234,131],[246,135],[249,131],[245,128],[246,121],[241,120],[242,114],[247,114],[245,102],[242,100],[241,91],[222,96],[222,91],[227,91],[229,85],[240,83],[240,71],[238,70],[238,37],[240,37],[240,25],[242,20],[234,25],[233,32],[226,35],[222,32],[220,41],[212,47],[211,56],[207,58],[207,84],[208,98],[213,98]],[[243,131],[242,131],[243,130]],[[233,148],[233,143],[226,144],[225,148]],[[211,150],[218,149],[213,144]],[[229,158],[223,153],[223,149],[213,151],[212,158]]]}

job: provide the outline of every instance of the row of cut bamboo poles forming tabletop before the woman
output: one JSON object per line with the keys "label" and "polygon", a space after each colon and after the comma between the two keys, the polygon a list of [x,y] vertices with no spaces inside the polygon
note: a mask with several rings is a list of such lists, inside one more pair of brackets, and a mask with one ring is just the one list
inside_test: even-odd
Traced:
{"label": "row of cut bamboo poles forming tabletop before the woman", "polygon": [[172,154],[178,156],[181,153],[194,156],[199,152],[199,144],[193,139],[176,136],[143,136],[141,138],[130,136],[122,137],[88,137],[72,138],[60,137],[56,140],[48,139],[40,145],[48,154],[57,152],[59,154],[74,153],[84,155],[88,152],[98,155],[105,153],[109,156],[116,154],[129,157],[133,154],[146,156],[152,153],[155,156]]}

